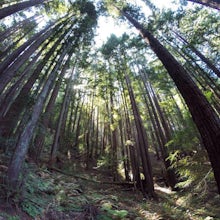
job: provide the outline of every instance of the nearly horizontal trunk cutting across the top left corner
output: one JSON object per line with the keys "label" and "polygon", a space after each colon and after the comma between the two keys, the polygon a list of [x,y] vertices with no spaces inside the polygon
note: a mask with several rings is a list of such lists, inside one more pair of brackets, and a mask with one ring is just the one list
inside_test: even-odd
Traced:
{"label": "nearly horizontal trunk cutting across the top left corner", "polygon": [[18,11],[21,11],[25,8],[39,5],[44,2],[48,2],[48,0],[29,0],[29,1],[13,4],[8,7],[2,8],[2,9],[0,9],[0,19],[5,18],[11,14],[18,12]]}

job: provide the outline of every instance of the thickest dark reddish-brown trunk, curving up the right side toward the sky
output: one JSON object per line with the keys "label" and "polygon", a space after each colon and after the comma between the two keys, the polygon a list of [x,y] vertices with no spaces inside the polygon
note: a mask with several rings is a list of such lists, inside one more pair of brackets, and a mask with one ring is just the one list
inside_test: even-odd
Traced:
{"label": "thickest dark reddish-brown trunk, curving up the right side toward the sky", "polygon": [[165,47],[126,12],[121,12],[139,31],[161,60],[183,96],[201,134],[220,194],[220,119],[186,70]]}

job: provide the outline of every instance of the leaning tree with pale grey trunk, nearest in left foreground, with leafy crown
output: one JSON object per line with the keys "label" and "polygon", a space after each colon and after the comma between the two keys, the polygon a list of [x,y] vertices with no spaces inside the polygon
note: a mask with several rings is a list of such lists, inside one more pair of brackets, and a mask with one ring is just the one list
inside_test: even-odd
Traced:
{"label": "leaning tree with pale grey trunk, nearest in left foreground, with leafy crown", "polygon": [[[78,4],[76,4],[78,6]],[[75,48],[81,46],[86,47],[91,43],[91,39],[94,36],[93,35],[93,28],[96,25],[96,10],[92,3],[86,4],[86,8],[84,8],[81,4],[80,12],[82,13],[82,16],[79,20],[76,19],[78,24],[76,25],[76,31],[74,35],[72,34],[72,30],[67,31],[67,36],[62,39],[61,42],[61,54],[58,54],[58,59],[53,64],[53,62],[49,62],[49,60],[46,60],[47,63],[49,63],[49,66],[53,66],[52,71],[48,74],[47,77],[43,77],[39,88],[41,88],[40,92],[36,92],[38,94],[37,99],[32,107],[32,112],[29,117],[29,120],[24,124],[23,130],[21,131],[21,134],[19,136],[18,142],[15,147],[14,154],[12,156],[11,162],[9,164],[8,168],[8,184],[15,188],[18,187],[19,182],[19,175],[22,170],[22,164],[25,159],[25,155],[29,148],[29,143],[31,141],[31,138],[33,137],[34,130],[36,128],[37,122],[39,120],[40,114],[43,111],[43,108],[45,106],[45,102],[47,100],[47,96],[49,94],[49,91],[52,89],[54,83],[56,82],[56,78],[60,72],[61,69],[65,72],[66,69],[69,66],[69,60],[72,57],[72,54],[75,52]],[[85,6],[85,5],[84,5]],[[89,9],[87,6],[90,6]],[[91,18],[92,16],[92,18]],[[74,20],[73,20],[74,21]],[[56,23],[56,22],[55,22]],[[75,23],[73,22],[75,25]],[[53,24],[51,24],[53,25]],[[56,26],[55,26],[56,27]],[[59,26],[57,26],[59,27]],[[65,29],[64,29],[65,30]],[[73,29],[74,30],[74,29]],[[65,31],[64,31],[65,32]],[[51,32],[50,32],[51,33]],[[33,39],[35,41],[35,39]],[[79,45],[80,43],[80,45]],[[34,43],[33,43],[34,45]],[[25,45],[27,46],[27,45]],[[31,45],[32,46],[32,45]],[[24,48],[23,48],[24,49]],[[28,50],[28,49],[27,49]],[[20,54],[22,50],[19,50]],[[49,56],[50,57],[50,56]],[[13,58],[13,57],[12,57]],[[4,70],[5,67],[7,67],[10,64],[10,59],[7,59],[7,62],[2,66],[2,69]],[[42,69],[42,67],[40,67]],[[33,84],[32,84],[33,85]],[[66,102],[66,101],[65,101]],[[65,107],[64,103],[64,107]],[[61,113],[63,110],[61,111]],[[63,118],[63,113],[61,114]],[[61,120],[60,120],[61,121]],[[60,128],[60,123],[59,123]],[[60,129],[57,129],[59,132]],[[56,136],[57,139],[57,136]]]}

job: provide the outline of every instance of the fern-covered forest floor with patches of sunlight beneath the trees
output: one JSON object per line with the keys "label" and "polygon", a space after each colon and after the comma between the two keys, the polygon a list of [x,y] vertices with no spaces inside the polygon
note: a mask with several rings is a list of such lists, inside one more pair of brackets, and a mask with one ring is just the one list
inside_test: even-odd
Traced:
{"label": "fern-covered forest floor with patches of sunlight beneath the trees", "polygon": [[172,192],[158,182],[154,200],[143,198],[134,187],[112,183],[104,170],[71,169],[26,163],[22,197],[7,194],[6,202],[1,198],[0,220],[220,219],[220,196],[208,183],[197,191]]}

